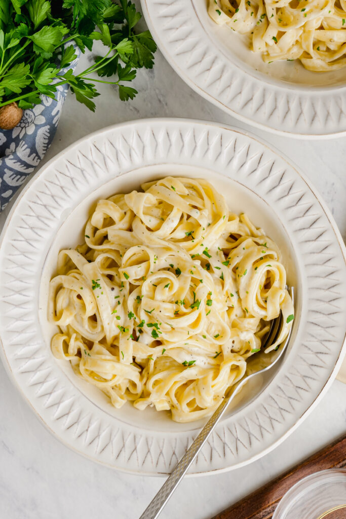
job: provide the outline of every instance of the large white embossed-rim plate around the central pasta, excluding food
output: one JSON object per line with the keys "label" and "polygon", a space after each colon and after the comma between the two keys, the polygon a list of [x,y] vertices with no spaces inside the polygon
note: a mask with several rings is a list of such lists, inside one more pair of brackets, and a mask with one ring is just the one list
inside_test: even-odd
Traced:
{"label": "large white embossed-rim plate around the central pasta, excluding food", "polygon": [[98,131],[52,159],[22,192],[0,241],[0,350],[26,401],[66,445],[121,470],[172,470],[201,423],[131,404],[114,409],[52,356],[46,318],[57,253],[78,244],[92,204],[166,174],[206,177],[233,211],[245,209],[280,245],[296,288],[284,362],[241,393],[190,472],[232,469],[281,442],[319,401],[345,333],[345,258],[333,218],[296,169],[254,138],[214,123],[148,119]]}

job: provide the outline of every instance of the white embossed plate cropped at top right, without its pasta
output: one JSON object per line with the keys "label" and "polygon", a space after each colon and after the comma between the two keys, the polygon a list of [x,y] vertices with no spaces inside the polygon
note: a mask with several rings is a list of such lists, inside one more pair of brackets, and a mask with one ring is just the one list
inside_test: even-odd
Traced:
{"label": "white embossed plate cropped at top right, without its pasta", "polygon": [[258,128],[305,138],[346,132],[346,68],[314,73],[266,64],[244,37],[219,26],[206,0],[141,0],[147,25],[173,69],[225,112]]}

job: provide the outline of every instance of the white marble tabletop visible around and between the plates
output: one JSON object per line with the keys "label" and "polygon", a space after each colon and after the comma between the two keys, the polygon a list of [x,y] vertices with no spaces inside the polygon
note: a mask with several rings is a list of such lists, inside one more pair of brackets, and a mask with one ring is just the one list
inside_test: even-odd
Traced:
{"label": "white marble tabletop visible around and between the plates", "polygon": [[[83,67],[88,56],[83,56]],[[82,136],[130,119],[190,117],[251,131],[294,161],[320,191],[346,238],[346,138],[301,141],[252,130],[198,97],[160,52],[152,71],[140,71],[139,95],[123,103],[101,85],[92,114],[69,94],[46,162]],[[11,206],[11,204],[10,204]],[[8,208],[10,209],[10,208]],[[8,213],[8,210],[5,212]],[[0,215],[0,228],[6,214]],[[6,519],[135,519],[163,480],[105,468],[64,447],[36,419],[0,364],[0,517]],[[164,519],[209,519],[346,430],[346,385],[335,381],[305,422],[273,452],[224,474],[185,479],[162,513]]]}

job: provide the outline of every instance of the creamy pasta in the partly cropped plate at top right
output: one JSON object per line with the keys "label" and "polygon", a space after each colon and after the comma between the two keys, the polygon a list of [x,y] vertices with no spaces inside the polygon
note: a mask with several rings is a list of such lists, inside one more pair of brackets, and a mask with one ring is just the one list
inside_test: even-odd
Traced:
{"label": "creamy pasta in the partly cropped plate at top right", "polygon": [[346,0],[209,0],[208,12],[247,34],[266,63],[299,59],[314,72],[346,65]]}

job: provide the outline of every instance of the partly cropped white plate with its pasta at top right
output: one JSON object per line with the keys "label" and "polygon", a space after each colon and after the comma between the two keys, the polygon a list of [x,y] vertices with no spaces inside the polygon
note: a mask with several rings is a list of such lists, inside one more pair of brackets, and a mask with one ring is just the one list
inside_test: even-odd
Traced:
{"label": "partly cropped white plate with its pasta at top right", "polygon": [[165,58],[207,100],[287,136],[346,131],[341,0],[142,0]]}

